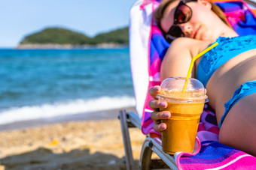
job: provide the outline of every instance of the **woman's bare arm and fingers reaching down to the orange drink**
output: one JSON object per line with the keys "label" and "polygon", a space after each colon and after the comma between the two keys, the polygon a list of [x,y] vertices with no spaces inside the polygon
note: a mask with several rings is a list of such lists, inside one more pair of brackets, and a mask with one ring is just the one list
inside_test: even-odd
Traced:
{"label": "woman's bare arm and fingers reaching down to the orange drink", "polygon": [[[162,81],[169,76],[187,76],[192,56],[197,55],[207,44],[203,41],[186,37],[180,37],[174,40],[162,61],[160,70]],[[194,77],[194,70],[192,70],[192,77]],[[156,96],[160,91],[161,87],[158,85],[151,87],[148,91],[151,97],[154,98],[148,105],[154,110],[154,112],[151,112],[151,118],[154,120],[154,130],[158,132],[166,130],[166,124],[161,123],[160,120],[170,118],[172,115],[168,111],[159,111],[160,108],[164,109],[167,107],[166,101],[157,100]]]}

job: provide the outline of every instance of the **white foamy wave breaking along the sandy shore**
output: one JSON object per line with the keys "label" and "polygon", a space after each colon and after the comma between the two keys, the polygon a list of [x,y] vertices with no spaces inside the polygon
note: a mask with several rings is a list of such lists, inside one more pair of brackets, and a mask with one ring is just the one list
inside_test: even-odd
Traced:
{"label": "white foamy wave breaking along the sandy shore", "polygon": [[6,109],[0,112],[0,124],[40,118],[52,118],[59,115],[118,109],[129,106],[135,106],[135,99],[126,96],[100,97],[90,100],[69,100],[62,103],[43,104],[41,106],[23,106]]}

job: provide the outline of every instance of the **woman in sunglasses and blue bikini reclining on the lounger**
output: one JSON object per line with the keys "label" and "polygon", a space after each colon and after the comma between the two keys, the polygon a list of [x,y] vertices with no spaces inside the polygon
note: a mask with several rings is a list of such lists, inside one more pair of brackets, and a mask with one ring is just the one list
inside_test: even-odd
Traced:
{"label": "woman in sunglasses and blue bikini reclining on the lounger", "polygon": [[[218,41],[218,46],[198,58],[192,77],[206,86],[209,105],[215,109],[220,126],[219,142],[256,156],[256,36],[238,37],[216,6],[206,0],[162,1],[155,13],[166,40],[175,38],[163,58],[160,76],[187,75],[191,58]],[[157,112],[166,101],[156,95],[160,86],[149,93],[155,100],[154,130],[166,129],[160,119],[172,113]]]}

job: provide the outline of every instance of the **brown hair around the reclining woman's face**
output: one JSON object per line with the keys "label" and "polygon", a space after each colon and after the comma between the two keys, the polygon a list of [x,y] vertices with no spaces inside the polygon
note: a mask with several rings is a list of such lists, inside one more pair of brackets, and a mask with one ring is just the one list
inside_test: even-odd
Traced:
{"label": "brown hair around the reclining woman's face", "polygon": [[[163,18],[163,13],[166,10],[166,7],[169,6],[169,4],[172,4],[173,1],[177,1],[177,0],[163,0],[161,1],[161,3],[159,4],[159,6],[157,7],[157,10],[154,11],[153,16],[154,16],[154,20],[157,22],[157,25],[159,26],[160,30],[163,32],[163,29],[161,28],[160,22],[161,19]],[[191,1],[191,0],[188,0]],[[188,2],[186,1],[186,2]],[[197,1],[197,0],[192,0],[192,1]],[[230,28],[231,25],[229,22],[227,22],[226,19],[226,15],[223,13],[223,11],[221,10],[220,7],[218,7],[216,4],[212,3],[211,1],[209,1],[210,4],[212,4],[212,11],[214,13],[216,13],[216,15],[226,24],[228,25]]]}

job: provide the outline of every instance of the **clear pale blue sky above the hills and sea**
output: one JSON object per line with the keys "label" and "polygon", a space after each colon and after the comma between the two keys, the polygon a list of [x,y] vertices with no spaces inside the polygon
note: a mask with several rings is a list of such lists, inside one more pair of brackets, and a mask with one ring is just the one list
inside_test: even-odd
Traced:
{"label": "clear pale blue sky above the hills and sea", "polygon": [[60,26],[87,36],[129,25],[136,0],[1,1],[0,47],[14,47],[27,34]]}

